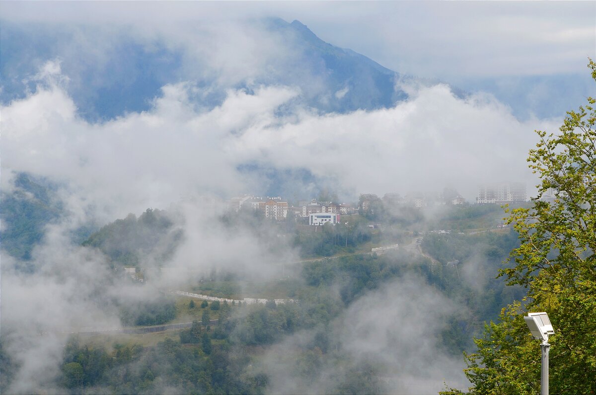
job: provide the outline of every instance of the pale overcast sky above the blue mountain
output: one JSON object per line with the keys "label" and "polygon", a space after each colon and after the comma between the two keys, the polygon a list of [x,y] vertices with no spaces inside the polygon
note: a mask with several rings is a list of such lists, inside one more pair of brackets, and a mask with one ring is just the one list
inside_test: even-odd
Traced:
{"label": "pale overcast sky above the blue mountain", "polygon": [[431,78],[585,72],[594,1],[3,2],[10,21],[175,26],[277,16],[389,69]]}

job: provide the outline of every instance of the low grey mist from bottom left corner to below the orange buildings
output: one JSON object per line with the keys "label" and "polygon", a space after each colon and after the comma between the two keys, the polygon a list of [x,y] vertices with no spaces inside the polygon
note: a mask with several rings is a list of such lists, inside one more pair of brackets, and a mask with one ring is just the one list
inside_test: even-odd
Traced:
{"label": "low grey mist from bottom left corner to below the orange buildings", "polygon": [[[122,328],[123,306],[159,303],[167,289],[188,289],[218,273],[246,280],[279,277],[281,263],[296,260],[290,246],[277,241],[274,251],[263,243],[268,227],[228,229],[221,212],[192,202],[173,205],[167,214],[171,229],[141,255],[143,284],[114,276],[108,257],[97,249],[73,244],[74,214],[46,226],[29,270],[2,251],[2,352],[18,366],[8,392],[64,393],[48,383],[61,374],[69,334]],[[184,236],[173,242],[170,235],[178,231]],[[173,254],[164,258],[172,245]]]}

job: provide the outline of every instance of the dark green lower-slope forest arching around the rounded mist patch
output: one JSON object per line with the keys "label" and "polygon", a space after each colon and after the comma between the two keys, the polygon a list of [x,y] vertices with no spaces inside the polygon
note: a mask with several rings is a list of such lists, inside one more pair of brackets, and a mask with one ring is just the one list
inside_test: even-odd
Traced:
{"label": "dark green lower-slope forest arching around the rounded mist patch", "polygon": [[[462,286],[453,269],[433,269],[426,258],[401,252],[310,263],[303,269],[306,286],[296,295],[300,304],[225,304],[215,326],[195,322],[192,328],[179,331],[178,338],[150,347],[114,344],[109,350],[73,338],[65,349],[57,382],[73,393],[100,388],[111,393],[160,393],[170,387],[184,393],[265,393],[267,372],[252,368],[259,363],[259,350],[308,329],[313,332],[312,339],[285,355],[294,361],[294,374],[316,377],[318,366],[345,365],[347,355],[342,345],[329,337],[329,325],[360,295],[406,273],[417,273],[449,297],[466,300],[468,310],[455,314],[449,328],[440,334],[445,351],[458,354],[470,347],[471,336],[482,328],[479,314],[489,314],[484,306],[491,305],[495,293]],[[340,295],[331,291],[334,284],[340,285]],[[495,284],[493,288],[498,287]],[[193,308],[203,310],[204,321],[209,321],[209,307],[197,303]],[[335,378],[331,393],[383,391],[377,382],[381,366],[350,369],[350,374]]]}

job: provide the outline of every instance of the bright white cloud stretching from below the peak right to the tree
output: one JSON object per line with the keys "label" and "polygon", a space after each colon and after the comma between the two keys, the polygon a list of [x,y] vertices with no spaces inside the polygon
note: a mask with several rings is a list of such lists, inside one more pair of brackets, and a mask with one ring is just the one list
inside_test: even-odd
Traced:
{"label": "bright white cloud stretching from below the peak right to the tree", "polygon": [[346,115],[302,113],[279,128],[253,125],[232,143],[246,161],[333,175],[364,192],[457,186],[473,199],[487,180],[534,182],[526,168],[533,128],[554,124],[517,121],[491,97],[461,100],[437,85],[396,107]]}

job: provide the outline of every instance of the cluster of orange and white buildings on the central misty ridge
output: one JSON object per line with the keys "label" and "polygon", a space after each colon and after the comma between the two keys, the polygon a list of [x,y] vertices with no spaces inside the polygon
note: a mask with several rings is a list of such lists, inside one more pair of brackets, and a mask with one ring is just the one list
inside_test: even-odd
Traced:
{"label": "cluster of orange and white buildings on the central misty ridge", "polygon": [[[330,221],[336,223],[339,221],[340,214],[354,214],[356,209],[346,203],[318,202],[316,199],[298,202],[296,206],[288,205],[288,202],[280,196],[277,198],[258,198],[252,195],[235,196],[229,200],[229,209],[240,211],[240,209],[250,207],[255,211],[262,213],[265,218],[272,218],[277,221],[284,220],[290,215],[293,218],[309,218],[309,223],[319,224]],[[328,217],[315,217],[315,214],[325,214]],[[333,214],[333,215],[332,215]],[[331,218],[333,217],[333,218]]]}

